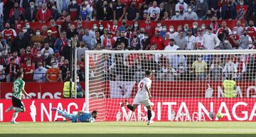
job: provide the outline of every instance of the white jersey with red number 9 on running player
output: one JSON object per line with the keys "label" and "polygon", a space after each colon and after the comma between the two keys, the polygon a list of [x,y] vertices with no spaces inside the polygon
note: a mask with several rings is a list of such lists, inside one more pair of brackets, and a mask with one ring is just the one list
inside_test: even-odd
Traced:
{"label": "white jersey with red number 9 on running player", "polygon": [[146,97],[148,97],[148,92],[146,91],[145,86],[147,86],[150,89],[151,82],[152,81],[148,77],[144,77],[144,79],[142,79],[138,84],[137,94],[145,95]]}

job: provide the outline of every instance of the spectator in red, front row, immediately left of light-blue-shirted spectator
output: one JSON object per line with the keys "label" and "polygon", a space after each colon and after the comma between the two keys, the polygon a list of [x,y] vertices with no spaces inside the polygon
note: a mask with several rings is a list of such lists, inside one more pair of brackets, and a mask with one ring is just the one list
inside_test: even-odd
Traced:
{"label": "spectator in red, front row, immediately left of light-blue-shirted spectator", "polygon": [[35,67],[32,64],[31,60],[26,60],[26,64],[23,64],[21,66],[21,72],[24,72],[23,80],[26,82],[32,82],[34,70],[35,70]]}

